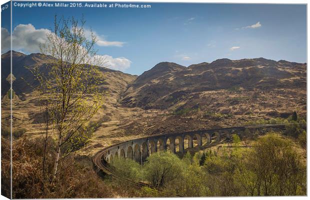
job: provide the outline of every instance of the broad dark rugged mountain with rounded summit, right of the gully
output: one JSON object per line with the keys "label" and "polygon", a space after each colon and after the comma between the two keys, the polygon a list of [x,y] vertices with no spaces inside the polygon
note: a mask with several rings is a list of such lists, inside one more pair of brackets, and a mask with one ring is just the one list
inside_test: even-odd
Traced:
{"label": "broad dark rugged mountain with rounded summit, right of the gully", "polygon": [[129,107],[177,109],[210,105],[205,102],[208,97],[204,96],[206,93],[212,96],[210,92],[242,90],[243,94],[239,92],[239,95],[243,96],[245,91],[276,93],[283,89],[305,91],[306,63],[262,57],[239,60],[223,58],[188,67],[160,62],[129,85],[121,102]]}

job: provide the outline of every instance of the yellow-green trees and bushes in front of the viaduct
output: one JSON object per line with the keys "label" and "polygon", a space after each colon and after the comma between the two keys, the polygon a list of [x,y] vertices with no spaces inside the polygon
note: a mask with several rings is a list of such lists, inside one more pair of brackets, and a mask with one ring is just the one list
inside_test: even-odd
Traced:
{"label": "yellow-green trees and bushes in front of the viaduct", "polygon": [[[240,142],[238,135],[233,141]],[[269,132],[252,148],[194,156],[187,152],[182,159],[169,151],[157,152],[143,165],[126,160],[115,167],[125,177],[148,182],[171,196],[305,195],[306,160],[294,145],[292,139]]]}

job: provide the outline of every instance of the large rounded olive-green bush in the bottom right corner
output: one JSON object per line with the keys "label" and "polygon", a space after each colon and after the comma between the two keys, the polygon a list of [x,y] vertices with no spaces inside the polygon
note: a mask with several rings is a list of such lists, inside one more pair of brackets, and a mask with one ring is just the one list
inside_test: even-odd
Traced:
{"label": "large rounded olive-green bush in the bottom right corner", "polygon": [[256,177],[257,194],[304,195],[306,167],[293,141],[275,133],[260,137],[248,154],[248,168]]}

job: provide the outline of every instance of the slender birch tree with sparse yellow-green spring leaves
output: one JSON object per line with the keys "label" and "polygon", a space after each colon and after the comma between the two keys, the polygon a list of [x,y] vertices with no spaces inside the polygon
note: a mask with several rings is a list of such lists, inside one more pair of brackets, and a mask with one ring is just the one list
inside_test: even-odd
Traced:
{"label": "slender birch tree with sparse yellow-green spring leaves", "polygon": [[57,175],[59,162],[74,148],[72,138],[85,137],[83,128],[103,103],[103,92],[98,89],[103,75],[98,66],[105,62],[96,54],[96,38],[84,29],[84,24],[84,19],[61,17],[57,20],[55,16],[53,31],[40,47],[41,53],[53,58],[45,72],[38,67],[32,69],[39,83],[38,100],[45,113],[45,138],[50,128],[56,140],[51,181]]}

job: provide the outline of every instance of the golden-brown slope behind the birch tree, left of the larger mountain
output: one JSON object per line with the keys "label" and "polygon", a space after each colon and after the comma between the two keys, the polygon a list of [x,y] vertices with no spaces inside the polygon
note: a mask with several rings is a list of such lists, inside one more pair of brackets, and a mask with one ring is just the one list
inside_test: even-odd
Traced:
{"label": "golden-brown slope behind the birch tree, left of the larger mountain", "polygon": [[[55,59],[51,56],[41,53],[23,54],[12,51],[12,70],[16,80],[13,81],[13,90],[16,95],[13,98],[13,129],[25,129],[26,136],[36,136],[39,134],[39,118],[41,112],[37,105],[36,96],[33,94],[33,89],[37,82],[34,80],[33,74],[29,68],[38,67],[43,73],[48,72],[50,62]],[[9,100],[7,98],[7,91],[9,83],[6,80],[10,69],[10,54],[9,52],[1,55],[1,117],[2,125],[9,124]],[[120,95],[126,90],[129,83],[131,83],[136,76],[123,73],[121,71],[112,70],[106,67],[100,67],[99,70],[103,73],[103,84],[98,85],[102,92],[105,92],[105,103],[103,108],[99,110],[94,120],[105,118],[109,120],[106,114],[114,110],[115,103]],[[111,114],[110,114],[111,115]]]}

